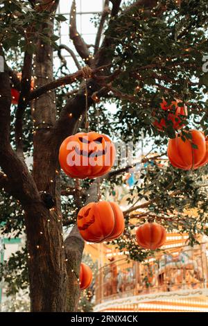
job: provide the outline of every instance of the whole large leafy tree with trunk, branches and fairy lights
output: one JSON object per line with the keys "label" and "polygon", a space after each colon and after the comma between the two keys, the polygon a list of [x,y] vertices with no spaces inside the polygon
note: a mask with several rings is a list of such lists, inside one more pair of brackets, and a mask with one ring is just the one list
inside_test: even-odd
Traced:
{"label": "whole large leafy tree with trunk, branches and fairy lights", "polygon": [[[164,153],[175,130],[168,121],[163,133],[153,127],[154,108],[159,108],[162,98],[168,104],[177,98],[189,109],[184,141],[193,126],[207,135],[208,84],[202,71],[207,55],[207,1],[137,0],[125,6],[121,0],[105,1],[93,50],[76,29],[73,1],[69,35],[82,62],[68,46],[55,43],[55,22],[64,20],[55,15],[57,6],[57,0],[3,0],[0,7],[0,49],[5,62],[0,73],[0,187],[2,201],[12,203],[1,205],[1,221],[3,232],[16,230],[17,234],[25,226],[31,311],[76,311],[78,306],[84,242],[76,228],[76,212],[86,202],[98,200],[97,181],[80,182],[62,175],[58,151],[67,136],[85,128],[85,84],[92,129],[98,128],[94,104],[99,102],[101,132],[125,142],[153,139],[155,151]],[[53,51],[64,62],[63,48],[71,53],[78,71],[55,79]],[[87,71],[80,69],[83,63],[89,65]],[[21,67],[21,81],[15,66]],[[15,109],[11,85],[21,91]],[[116,104],[116,114],[110,116],[105,110],[107,103]],[[159,112],[157,119],[163,116]],[[26,155],[33,155],[31,171]],[[168,230],[189,232],[191,243],[196,232],[207,233],[207,167],[181,171],[170,164],[159,165],[155,156],[141,162],[155,164],[142,167],[143,182],[135,185],[139,199],[146,203],[137,205],[130,198],[125,233],[115,241],[132,259],[150,254],[138,248],[130,232],[144,218],[156,218]],[[100,181],[112,188],[130,167],[121,166]],[[196,218],[189,214],[192,207],[197,209]],[[141,208],[145,212],[138,213],[138,223],[132,224],[131,212]],[[71,224],[73,229],[64,241],[63,225]]]}

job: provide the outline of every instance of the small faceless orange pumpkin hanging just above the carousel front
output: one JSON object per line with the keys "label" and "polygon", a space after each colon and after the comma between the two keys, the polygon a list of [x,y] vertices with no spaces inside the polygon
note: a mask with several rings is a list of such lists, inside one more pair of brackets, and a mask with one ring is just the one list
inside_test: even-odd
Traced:
{"label": "small faceless orange pumpkin hanging just above the carousel front", "polygon": [[164,245],[166,241],[166,230],[157,223],[144,223],[136,231],[139,246],[145,249],[155,250]]}

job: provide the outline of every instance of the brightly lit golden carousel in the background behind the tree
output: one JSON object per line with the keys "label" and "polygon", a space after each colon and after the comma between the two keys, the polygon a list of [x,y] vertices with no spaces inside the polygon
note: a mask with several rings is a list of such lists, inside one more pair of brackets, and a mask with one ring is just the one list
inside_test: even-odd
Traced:
{"label": "brightly lit golden carousel in the background behind the tree", "polygon": [[186,237],[168,234],[164,250],[142,263],[109,250],[94,311],[208,311],[207,239],[190,247]]}

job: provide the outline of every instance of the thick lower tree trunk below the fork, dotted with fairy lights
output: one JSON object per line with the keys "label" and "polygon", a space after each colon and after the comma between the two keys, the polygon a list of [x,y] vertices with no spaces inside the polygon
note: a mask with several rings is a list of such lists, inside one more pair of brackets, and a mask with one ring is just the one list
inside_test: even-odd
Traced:
{"label": "thick lower tree trunk below the fork, dotted with fairy lights", "polygon": [[68,276],[58,214],[44,205],[26,209],[31,311],[67,311]]}

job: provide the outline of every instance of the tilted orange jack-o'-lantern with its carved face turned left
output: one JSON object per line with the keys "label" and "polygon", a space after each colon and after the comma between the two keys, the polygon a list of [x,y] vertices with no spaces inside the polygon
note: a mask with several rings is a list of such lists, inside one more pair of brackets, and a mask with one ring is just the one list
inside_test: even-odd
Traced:
{"label": "tilted orange jack-o'-lantern with its carved face turned left", "polygon": [[77,225],[83,239],[94,243],[117,239],[125,227],[119,205],[107,201],[89,203],[81,208]]}

